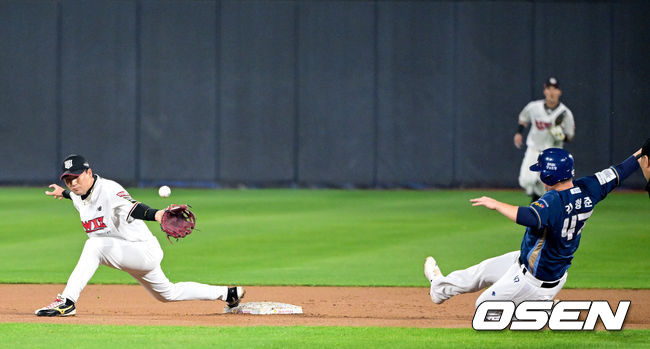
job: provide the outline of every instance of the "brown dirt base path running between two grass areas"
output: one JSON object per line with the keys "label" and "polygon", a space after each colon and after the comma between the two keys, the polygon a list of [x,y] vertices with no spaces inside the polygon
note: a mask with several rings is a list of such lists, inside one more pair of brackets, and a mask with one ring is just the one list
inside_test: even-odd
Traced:
{"label": "brown dirt base path running between two grass areas", "polygon": [[[221,301],[161,303],[138,285],[89,285],[77,315],[42,318],[34,310],[49,304],[63,285],[0,284],[0,322],[180,326],[398,326],[471,327],[478,294],[456,296],[441,305],[424,287],[247,287],[243,302],[274,301],[302,306],[302,315],[222,314]],[[631,300],[624,328],[650,328],[650,290],[563,290],[562,300]]]}

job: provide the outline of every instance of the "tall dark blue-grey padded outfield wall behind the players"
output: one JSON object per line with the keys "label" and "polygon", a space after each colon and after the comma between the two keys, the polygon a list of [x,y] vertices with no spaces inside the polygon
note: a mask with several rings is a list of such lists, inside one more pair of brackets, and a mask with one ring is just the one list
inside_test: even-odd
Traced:
{"label": "tall dark blue-grey padded outfield wall behind the players", "polygon": [[648,18],[608,1],[2,1],[0,183],[51,182],[78,152],[128,185],[516,187],[517,115],[550,75],[585,175],[650,136]]}

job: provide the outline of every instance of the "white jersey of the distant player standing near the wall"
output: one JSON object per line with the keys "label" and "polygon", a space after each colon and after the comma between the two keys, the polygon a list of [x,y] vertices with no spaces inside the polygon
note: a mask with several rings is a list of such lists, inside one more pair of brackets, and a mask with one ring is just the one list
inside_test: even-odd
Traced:
{"label": "white jersey of the distant player standing near the wall", "polygon": [[575,134],[575,121],[573,113],[566,105],[560,103],[555,109],[549,109],[543,99],[528,103],[519,113],[519,121],[530,125],[526,146],[539,152],[551,147],[562,148],[564,142],[556,141],[549,132],[555,119],[562,113],[565,116],[560,126],[564,134],[571,138]]}

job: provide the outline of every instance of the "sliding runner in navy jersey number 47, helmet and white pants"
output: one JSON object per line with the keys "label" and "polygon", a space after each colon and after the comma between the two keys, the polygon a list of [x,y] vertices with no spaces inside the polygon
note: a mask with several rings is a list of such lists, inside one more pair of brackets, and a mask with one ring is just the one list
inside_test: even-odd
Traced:
{"label": "sliding runner in navy jersey number 47, helmet and white pants", "polygon": [[553,300],[567,279],[573,255],[580,244],[585,223],[594,207],[605,199],[642,162],[641,150],[622,163],[593,176],[573,179],[573,157],[560,148],[544,150],[530,169],[540,173],[547,189],[530,206],[513,206],[483,196],[471,199],[472,206],[497,210],[526,227],[521,248],[444,276],[433,257],[424,263],[424,275],[431,282],[434,303],[450,297],[487,289],[476,300]]}

